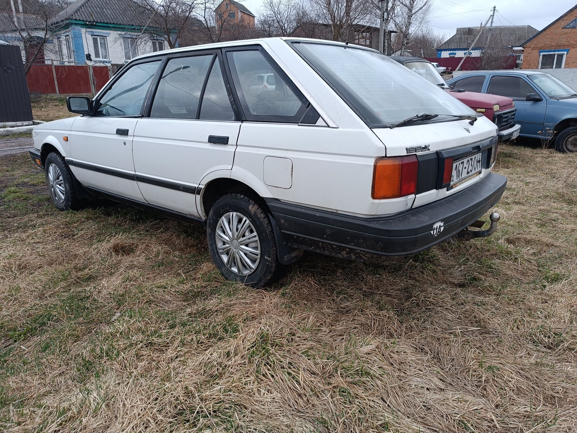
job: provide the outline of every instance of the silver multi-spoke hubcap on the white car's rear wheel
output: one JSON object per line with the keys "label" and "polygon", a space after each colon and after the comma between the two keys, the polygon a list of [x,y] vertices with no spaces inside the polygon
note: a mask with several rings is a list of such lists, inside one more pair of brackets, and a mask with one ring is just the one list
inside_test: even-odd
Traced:
{"label": "silver multi-spoke hubcap on the white car's rear wheel", "polygon": [[250,275],[260,262],[260,241],[246,216],[228,212],[216,225],[216,248],[226,267],[238,275]]}

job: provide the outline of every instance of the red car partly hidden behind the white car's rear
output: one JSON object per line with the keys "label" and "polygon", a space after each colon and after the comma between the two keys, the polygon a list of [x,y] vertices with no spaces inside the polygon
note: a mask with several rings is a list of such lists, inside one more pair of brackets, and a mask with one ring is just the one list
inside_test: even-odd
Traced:
{"label": "red car partly hidden behind the white car's rear", "polygon": [[443,77],[435,70],[434,63],[420,57],[392,56],[394,61],[418,73],[431,83],[448,91],[460,102],[467,104],[477,113],[483,113],[486,118],[492,121],[499,128],[497,135],[500,143],[507,143],[515,140],[519,136],[521,125],[514,122],[515,102],[511,98],[497,95],[484,95],[478,92],[466,92],[462,89],[452,89],[445,83]]}

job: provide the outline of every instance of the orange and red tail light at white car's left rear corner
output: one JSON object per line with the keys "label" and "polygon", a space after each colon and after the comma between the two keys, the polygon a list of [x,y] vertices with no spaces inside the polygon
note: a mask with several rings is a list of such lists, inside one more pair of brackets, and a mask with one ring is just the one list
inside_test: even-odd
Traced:
{"label": "orange and red tail light at white car's left rear corner", "polygon": [[417,156],[377,158],[373,170],[373,199],[394,199],[417,189]]}

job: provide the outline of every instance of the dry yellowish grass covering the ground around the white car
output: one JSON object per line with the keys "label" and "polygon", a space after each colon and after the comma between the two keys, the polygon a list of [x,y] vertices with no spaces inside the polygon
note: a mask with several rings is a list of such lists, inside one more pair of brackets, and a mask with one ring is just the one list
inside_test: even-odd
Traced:
{"label": "dry yellowish grass covering the ground around the white car", "polygon": [[263,291],[220,277],[202,227],[57,212],[27,156],[0,159],[0,426],[576,431],[576,166],[504,146],[493,237],[309,253]]}

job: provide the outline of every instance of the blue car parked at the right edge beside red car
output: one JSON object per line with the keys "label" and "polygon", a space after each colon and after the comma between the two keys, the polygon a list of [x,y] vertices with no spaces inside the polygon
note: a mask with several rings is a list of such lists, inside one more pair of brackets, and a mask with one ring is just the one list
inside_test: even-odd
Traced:
{"label": "blue car parked at the right edge beside red car", "polygon": [[454,89],[508,96],[515,101],[520,136],[554,140],[559,152],[577,152],[577,92],[544,72],[484,70],[447,81]]}

